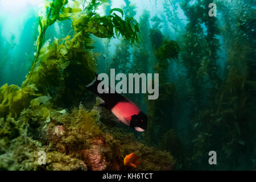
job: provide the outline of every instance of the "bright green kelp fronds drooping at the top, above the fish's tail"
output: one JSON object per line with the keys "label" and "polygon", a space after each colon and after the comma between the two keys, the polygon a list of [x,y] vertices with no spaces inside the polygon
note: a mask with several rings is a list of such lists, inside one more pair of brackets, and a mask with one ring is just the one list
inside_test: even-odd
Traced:
{"label": "bright green kelp fronds drooping at the top, above the fish's tail", "polygon": [[120,17],[115,11],[118,11],[123,16],[123,10],[114,8],[109,11],[109,15],[100,16],[95,12],[98,6],[101,5],[101,1],[92,1],[86,7],[85,14],[75,19],[74,30],[80,32],[84,30],[83,34],[93,34],[98,38],[113,38],[114,34],[119,37],[122,35],[125,39],[131,43],[138,41],[139,26],[135,19],[129,16]]}

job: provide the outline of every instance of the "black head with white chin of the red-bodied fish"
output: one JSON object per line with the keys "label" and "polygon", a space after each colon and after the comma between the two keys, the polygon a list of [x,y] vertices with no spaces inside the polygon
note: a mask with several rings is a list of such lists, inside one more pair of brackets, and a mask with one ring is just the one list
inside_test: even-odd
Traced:
{"label": "black head with white chin of the red-bodied fish", "polygon": [[145,131],[147,129],[147,115],[142,111],[139,114],[132,115],[130,127],[140,132]]}

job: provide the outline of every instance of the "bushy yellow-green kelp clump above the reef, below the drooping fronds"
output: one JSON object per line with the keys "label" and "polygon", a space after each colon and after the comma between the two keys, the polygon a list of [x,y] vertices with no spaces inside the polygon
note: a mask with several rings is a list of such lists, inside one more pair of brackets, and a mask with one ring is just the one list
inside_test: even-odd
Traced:
{"label": "bushy yellow-green kelp clump above the reef, below the drooping fronds", "polygon": [[92,79],[93,73],[96,71],[94,68],[96,54],[84,51],[82,44],[76,45],[81,34],[70,38],[67,36],[65,39],[55,39],[49,46],[46,44],[39,57],[39,66],[32,72],[30,78],[23,82],[22,86],[36,84],[40,93],[53,96],[58,92],[57,88],[64,84],[64,77],[67,75],[65,69],[73,64],[78,64],[76,59],[80,59],[80,64],[84,65],[82,68],[84,68],[84,74],[88,74],[86,77],[89,80]]}

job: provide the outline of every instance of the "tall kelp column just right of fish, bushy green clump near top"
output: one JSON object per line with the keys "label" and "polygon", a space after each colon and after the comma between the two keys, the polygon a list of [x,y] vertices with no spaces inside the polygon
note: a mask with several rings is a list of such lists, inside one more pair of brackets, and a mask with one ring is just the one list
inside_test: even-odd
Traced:
{"label": "tall kelp column just right of fish, bushy green clump near top", "polygon": [[150,38],[156,58],[156,65],[154,65],[153,69],[155,73],[159,74],[159,98],[147,101],[147,113],[150,123],[148,123],[147,131],[145,132],[145,140],[147,144],[159,147],[159,144],[164,139],[164,133],[168,132],[170,123],[172,123],[170,115],[174,112],[174,106],[177,101],[176,86],[174,83],[168,82],[167,73],[170,65],[168,59],[170,61],[177,60],[179,46],[174,40],[164,40],[164,36],[160,31],[160,19],[157,16],[154,17],[154,22]]}

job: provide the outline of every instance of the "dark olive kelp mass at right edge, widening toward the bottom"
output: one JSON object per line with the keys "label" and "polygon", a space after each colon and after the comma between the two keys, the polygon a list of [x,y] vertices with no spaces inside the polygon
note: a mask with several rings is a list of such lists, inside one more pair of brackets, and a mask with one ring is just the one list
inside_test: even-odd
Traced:
{"label": "dark olive kelp mass at right edge, widening toward the bottom", "polygon": [[[247,56],[250,54],[249,47],[243,46],[238,51],[237,44],[233,44],[228,54],[228,75],[225,82],[215,94],[211,108],[201,111],[196,117],[197,137],[193,160],[204,156],[209,148],[216,148],[222,152],[220,160],[232,158],[232,162],[222,164],[221,169],[237,169],[237,166],[247,161],[247,165],[254,166],[250,160],[254,156],[255,128],[254,120],[251,119],[253,105],[250,100],[254,99],[255,81],[248,77]],[[239,52],[239,55],[238,55]],[[208,122],[205,122],[208,121]],[[223,133],[223,135],[220,135]],[[218,141],[217,143],[214,141]],[[211,146],[209,146],[209,143]],[[198,152],[201,151],[201,152]],[[239,154],[247,154],[237,158]],[[249,156],[249,157],[247,157]]]}

